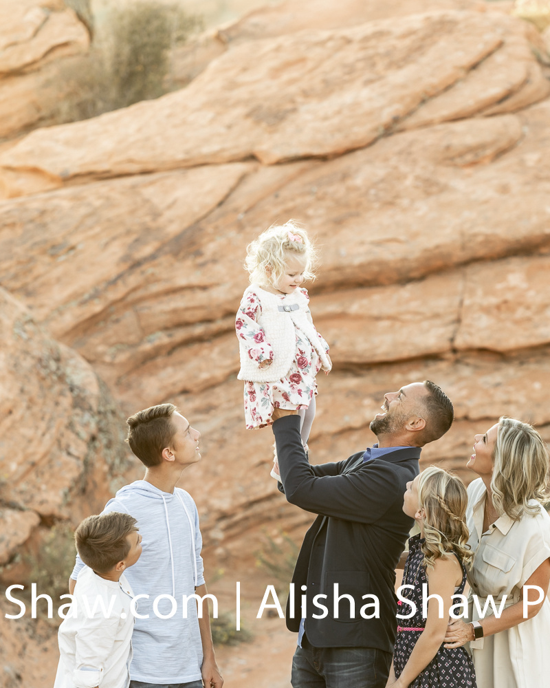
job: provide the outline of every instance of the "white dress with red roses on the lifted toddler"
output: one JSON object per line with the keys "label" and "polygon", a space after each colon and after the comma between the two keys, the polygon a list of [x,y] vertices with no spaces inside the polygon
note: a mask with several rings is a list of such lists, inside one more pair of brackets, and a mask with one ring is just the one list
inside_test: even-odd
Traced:
{"label": "white dress with red roses on the lifted toddler", "polygon": [[[309,301],[307,290],[300,289],[300,291]],[[285,303],[286,294],[276,294],[276,296],[281,299],[282,304]],[[237,336],[244,339],[250,346],[248,354],[256,363],[262,363],[267,358],[273,359],[272,347],[265,340],[265,333],[258,323],[261,312],[259,294],[248,291],[241,301],[235,321]],[[245,382],[245,424],[248,430],[272,424],[273,409],[289,411],[307,409],[311,398],[317,394],[315,376],[320,371],[321,359],[305,333],[298,327],[294,329],[296,351],[285,377],[266,383]],[[325,351],[328,351],[327,342],[320,334],[318,337]]]}

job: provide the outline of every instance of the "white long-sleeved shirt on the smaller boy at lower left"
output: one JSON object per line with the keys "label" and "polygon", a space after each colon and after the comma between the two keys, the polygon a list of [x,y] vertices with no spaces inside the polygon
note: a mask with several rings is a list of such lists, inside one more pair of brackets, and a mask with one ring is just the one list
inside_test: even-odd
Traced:
{"label": "white long-sleeved shirt on the smaller boy at lower left", "polygon": [[54,688],[128,687],[132,598],[124,574],[120,581],[106,581],[87,566],[80,571],[72,607],[58,631],[61,658]]}

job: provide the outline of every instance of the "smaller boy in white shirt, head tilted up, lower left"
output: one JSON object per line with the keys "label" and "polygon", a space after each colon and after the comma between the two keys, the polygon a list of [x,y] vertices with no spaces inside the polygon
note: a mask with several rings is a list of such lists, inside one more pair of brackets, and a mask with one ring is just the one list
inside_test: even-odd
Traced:
{"label": "smaller boy in white shirt, head tilted up, lower left", "polygon": [[89,516],[76,528],[76,549],[86,566],[59,627],[54,688],[128,687],[134,618],[124,570],[142,553],[136,524],[129,514],[113,511]]}

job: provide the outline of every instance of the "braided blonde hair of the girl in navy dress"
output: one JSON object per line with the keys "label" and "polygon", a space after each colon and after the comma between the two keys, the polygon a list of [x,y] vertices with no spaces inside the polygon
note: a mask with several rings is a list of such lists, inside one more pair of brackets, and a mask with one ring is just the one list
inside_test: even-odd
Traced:
{"label": "braided blonde hair of the girl in navy dress", "polygon": [[438,466],[429,466],[420,474],[418,498],[424,510],[424,565],[432,568],[436,559],[446,559],[454,552],[469,566],[474,555],[467,545],[468,497],[461,479]]}

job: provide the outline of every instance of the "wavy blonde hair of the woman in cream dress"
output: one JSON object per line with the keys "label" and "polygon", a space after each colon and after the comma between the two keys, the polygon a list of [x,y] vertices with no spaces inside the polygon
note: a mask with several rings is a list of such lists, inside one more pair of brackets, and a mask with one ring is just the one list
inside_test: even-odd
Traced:
{"label": "wavy blonde hair of the woman in cream dress", "polygon": [[549,504],[548,452],[540,434],[529,423],[503,416],[498,420],[493,450],[491,492],[498,515],[518,521],[522,515],[536,516],[538,505]]}

